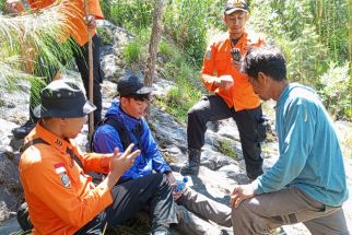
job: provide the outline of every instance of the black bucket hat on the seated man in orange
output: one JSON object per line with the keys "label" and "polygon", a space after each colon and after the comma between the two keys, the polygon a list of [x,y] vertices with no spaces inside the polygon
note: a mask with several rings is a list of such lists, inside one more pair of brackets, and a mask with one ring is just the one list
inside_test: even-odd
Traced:
{"label": "black bucket hat on the seated man in orange", "polygon": [[72,80],[51,82],[42,90],[40,99],[42,104],[34,109],[34,115],[38,118],[78,118],[96,109]]}

